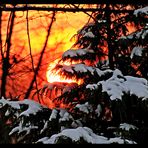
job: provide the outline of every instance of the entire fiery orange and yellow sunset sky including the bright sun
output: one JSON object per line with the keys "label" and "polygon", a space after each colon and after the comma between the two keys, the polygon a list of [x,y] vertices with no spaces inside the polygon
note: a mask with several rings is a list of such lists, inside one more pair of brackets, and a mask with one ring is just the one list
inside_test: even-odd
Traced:
{"label": "entire fiery orange and yellow sunset sky including the bright sun", "polygon": [[[90,5],[92,7],[95,4]],[[61,5],[59,5],[60,7]],[[66,7],[66,5],[61,6]],[[85,7],[83,4],[81,7]],[[86,7],[89,7],[86,6]],[[52,12],[43,12],[43,11],[29,11],[29,34],[31,49],[34,58],[34,65],[36,67],[39,55],[44,46],[48,26],[51,21]],[[10,17],[10,12],[2,13],[2,47],[3,50],[6,50],[6,36],[8,29],[8,22]],[[77,80],[76,77],[66,78],[66,76],[59,75],[59,71],[53,70],[54,67],[59,62],[59,57],[62,53],[71,48],[74,44],[74,40],[70,40],[73,35],[77,33],[89,20],[89,16],[84,12],[57,12],[55,21],[52,25],[50,36],[48,39],[46,52],[42,60],[42,65],[40,67],[39,75],[37,77],[37,82],[39,88],[42,87],[45,83],[77,83],[78,85],[83,83],[82,79]],[[129,33],[134,31],[134,26],[128,24]],[[103,48],[104,50],[105,47]],[[10,72],[14,75],[11,76],[11,79],[8,80],[7,84],[7,95],[8,96],[20,96],[19,99],[24,99],[24,94],[28,89],[30,82],[32,80],[33,72],[29,71],[31,69],[31,60],[29,55],[29,44],[27,37],[27,20],[26,20],[26,11],[16,12],[13,33],[11,39],[11,61],[10,64],[17,59],[22,60],[22,62],[17,63],[12,68]],[[55,60],[56,59],[56,60]],[[0,57],[1,60],[1,57]],[[55,61],[54,61],[55,60]],[[54,62],[51,62],[54,61]],[[71,65],[77,64],[77,62],[63,62],[61,65]],[[87,61],[86,61],[87,62]],[[91,64],[91,63],[90,63]],[[88,63],[88,65],[90,65]],[[26,71],[25,71],[26,70]],[[0,65],[0,74],[2,73],[2,68]],[[47,79],[47,80],[46,80]],[[1,82],[0,82],[1,83]],[[10,95],[11,94],[11,95]],[[56,94],[57,95],[57,94]],[[46,102],[47,101],[47,102]],[[46,102],[46,103],[45,103]],[[44,100],[44,103],[48,107],[54,106],[52,100]],[[62,103],[61,103],[62,104]]]}

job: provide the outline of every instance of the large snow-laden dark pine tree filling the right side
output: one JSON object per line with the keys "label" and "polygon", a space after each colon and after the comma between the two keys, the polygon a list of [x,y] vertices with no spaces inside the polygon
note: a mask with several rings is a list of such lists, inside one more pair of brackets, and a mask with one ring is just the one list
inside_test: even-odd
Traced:
{"label": "large snow-laden dark pine tree filling the right side", "polygon": [[107,4],[102,10],[78,31],[73,48],[64,52],[52,69],[63,77],[82,80],[80,85],[64,84],[61,89],[57,83],[44,91],[59,88],[61,95],[54,100],[70,104],[74,118],[83,126],[111,137],[115,135],[110,126],[147,124],[148,7]]}

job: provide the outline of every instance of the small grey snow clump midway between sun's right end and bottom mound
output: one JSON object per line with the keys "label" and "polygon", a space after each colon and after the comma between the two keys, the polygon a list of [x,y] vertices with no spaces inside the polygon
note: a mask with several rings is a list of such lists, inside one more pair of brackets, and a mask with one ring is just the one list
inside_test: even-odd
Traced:
{"label": "small grey snow clump midway between sun's right end and bottom mound", "polygon": [[77,104],[75,108],[78,108],[81,112],[84,112],[86,114],[89,114],[93,111],[92,106],[88,102],[86,102],[85,104]]}

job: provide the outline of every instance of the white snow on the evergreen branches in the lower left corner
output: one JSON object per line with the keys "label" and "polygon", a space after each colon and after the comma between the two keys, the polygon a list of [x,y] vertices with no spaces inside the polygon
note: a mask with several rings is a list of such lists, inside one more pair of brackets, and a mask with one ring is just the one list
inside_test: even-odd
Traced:
{"label": "white snow on the evergreen branches in the lower left corner", "polygon": [[[0,108],[8,105],[8,110],[6,111],[5,116],[9,116],[13,110],[14,114],[17,115],[17,118],[20,118],[19,124],[16,124],[16,127],[10,131],[9,135],[15,133],[21,134],[23,132],[25,132],[25,135],[28,135],[32,130],[39,128],[38,126],[32,125],[30,122],[24,126],[24,118],[21,119],[21,117],[30,117],[30,115],[36,115],[38,112],[42,111],[45,107],[41,106],[39,103],[29,99],[23,101],[9,101],[2,97],[2,99],[0,99],[0,105]],[[23,106],[25,106],[25,108]],[[9,107],[11,110],[9,110]]]}

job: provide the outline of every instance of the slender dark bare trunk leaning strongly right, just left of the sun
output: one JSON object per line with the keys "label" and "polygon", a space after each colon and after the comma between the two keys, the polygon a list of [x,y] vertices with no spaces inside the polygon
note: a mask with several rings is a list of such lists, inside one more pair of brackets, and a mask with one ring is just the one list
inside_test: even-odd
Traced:
{"label": "slender dark bare trunk leaning strongly right, just left of the sun", "polygon": [[46,50],[46,47],[47,47],[47,43],[48,43],[48,39],[49,39],[49,36],[50,36],[51,27],[52,27],[53,22],[54,22],[55,14],[56,14],[56,13],[53,12],[53,15],[52,15],[52,18],[51,18],[51,22],[50,22],[50,24],[49,24],[49,26],[48,26],[48,31],[47,31],[46,40],[45,40],[45,43],[44,43],[42,52],[41,52],[40,57],[39,57],[39,61],[38,61],[37,67],[36,67],[36,69],[35,69],[33,79],[32,79],[32,81],[31,81],[31,83],[30,83],[30,86],[29,86],[27,92],[26,92],[25,99],[27,99],[27,98],[30,96],[31,90],[32,90],[32,88],[33,88],[33,84],[34,84],[34,82],[36,81],[36,77],[37,77],[38,72],[39,72],[39,70],[40,70],[40,66],[41,66],[41,64],[42,64],[43,55],[44,55],[44,53],[45,53],[45,50]]}

